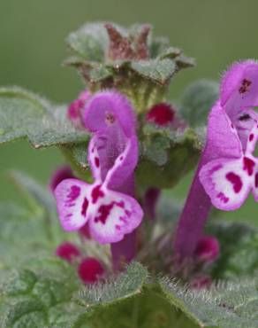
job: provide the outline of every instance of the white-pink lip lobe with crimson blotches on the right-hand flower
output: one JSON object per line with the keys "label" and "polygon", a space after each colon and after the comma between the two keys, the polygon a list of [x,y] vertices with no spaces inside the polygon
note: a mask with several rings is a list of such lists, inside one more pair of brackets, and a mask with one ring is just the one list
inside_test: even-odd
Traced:
{"label": "white-pink lip lobe with crimson blotches on the right-hand flower", "polygon": [[247,158],[212,160],[201,168],[199,177],[212,204],[229,211],[239,208],[247,199],[254,168],[252,160]]}

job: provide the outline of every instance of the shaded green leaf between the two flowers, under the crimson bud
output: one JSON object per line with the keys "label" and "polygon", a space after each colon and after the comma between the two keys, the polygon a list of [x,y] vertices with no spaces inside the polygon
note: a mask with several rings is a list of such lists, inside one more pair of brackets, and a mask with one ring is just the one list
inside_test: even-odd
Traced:
{"label": "shaded green leaf between the two flowers, under the crimson bud", "polygon": [[194,168],[200,152],[201,143],[194,130],[182,133],[146,125],[136,170],[138,184],[171,188]]}

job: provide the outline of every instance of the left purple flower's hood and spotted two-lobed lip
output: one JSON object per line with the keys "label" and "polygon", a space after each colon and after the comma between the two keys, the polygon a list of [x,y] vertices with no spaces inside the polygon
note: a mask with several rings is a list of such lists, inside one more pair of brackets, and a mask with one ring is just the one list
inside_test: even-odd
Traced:
{"label": "left purple flower's hood and spotted two-lobed lip", "polygon": [[126,194],[138,160],[133,109],[120,94],[99,92],[87,103],[84,121],[94,132],[88,161],[95,182],[61,182],[55,190],[57,211],[64,230],[80,230],[88,223],[99,243],[117,243],[143,216],[139,203]]}

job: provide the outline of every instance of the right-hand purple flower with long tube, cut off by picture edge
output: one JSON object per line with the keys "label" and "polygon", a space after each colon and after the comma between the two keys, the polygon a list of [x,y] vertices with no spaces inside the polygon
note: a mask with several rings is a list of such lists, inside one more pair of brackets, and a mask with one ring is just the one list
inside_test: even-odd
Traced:
{"label": "right-hand purple flower with long tube, cut off by picture edge", "polygon": [[[253,60],[234,64],[224,74],[220,98],[209,113],[206,145],[178,221],[174,252],[179,258],[193,256],[209,216],[211,199],[216,207],[234,209],[243,203],[253,185],[255,190],[256,168],[253,168],[251,175],[248,172],[251,172],[250,166],[256,167],[252,147],[256,142],[257,114],[252,108],[258,105],[257,87],[258,64]],[[251,137],[252,129],[254,137]],[[245,158],[248,159],[245,160],[248,168],[244,168]],[[218,160],[216,169],[214,162],[208,164],[213,160]],[[232,163],[231,160],[236,161]],[[231,165],[237,167],[231,169]],[[210,172],[211,166],[215,169],[213,173]],[[227,173],[231,175],[224,179],[223,184],[219,175]],[[241,188],[240,184],[243,184]],[[232,191],[234,188],[235,191]]]}

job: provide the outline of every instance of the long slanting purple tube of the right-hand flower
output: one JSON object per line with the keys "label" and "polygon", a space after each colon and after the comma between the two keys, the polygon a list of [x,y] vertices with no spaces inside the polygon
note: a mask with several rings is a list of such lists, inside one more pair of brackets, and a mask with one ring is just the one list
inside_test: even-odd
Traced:
{"label": "long slanting purple tube of the right-hand flower", "polygon": [[199,180],[201,167],[210,159],[208,148],[202,153],[193,184],[188,193],[186,204],[179,218],[174,236],[174,254],[176,259],[192,257],[209,216],[211,202]]}

